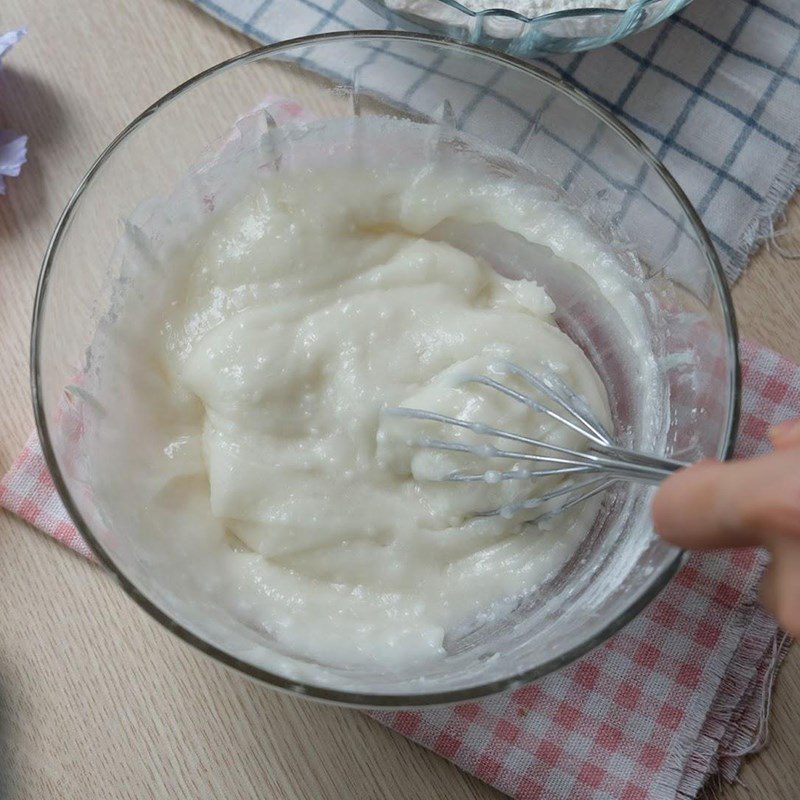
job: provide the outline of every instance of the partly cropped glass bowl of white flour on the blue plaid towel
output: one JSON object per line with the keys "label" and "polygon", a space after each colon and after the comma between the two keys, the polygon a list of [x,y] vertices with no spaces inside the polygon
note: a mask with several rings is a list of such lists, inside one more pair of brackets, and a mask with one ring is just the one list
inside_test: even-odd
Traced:
{"label": "partly cropped glass bowl of white flour on the blue plaid towel", "polygon": [[474,0],[362,0],[390,22],[400,21],[430,33],[480,44],[518,56],[574,53],[605,47],[665,20],[691,0],[633,0],[624,9],[586,8],[526,16],[503,6],[475,10]]}

